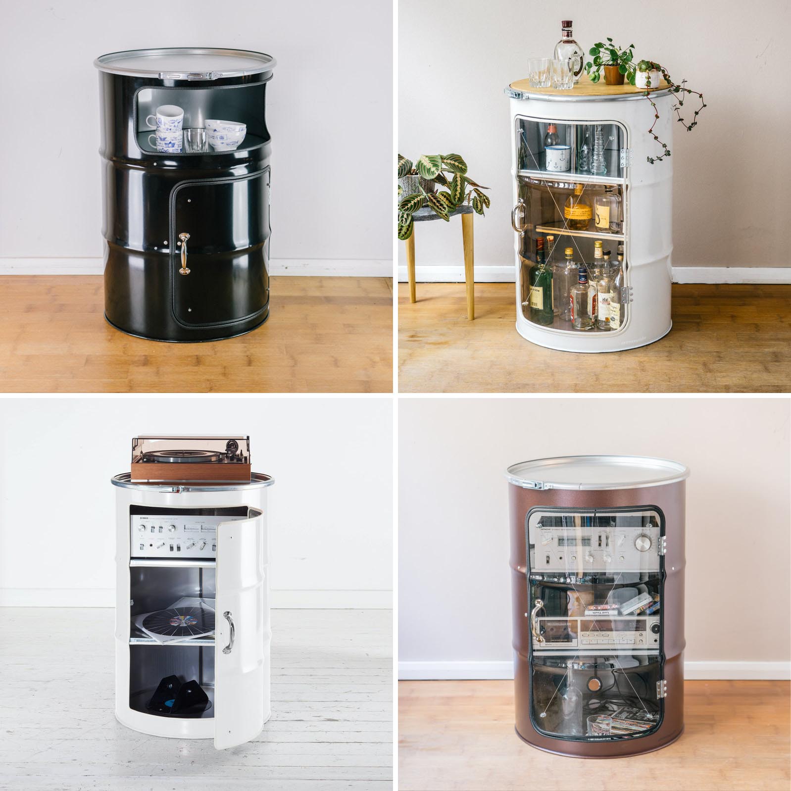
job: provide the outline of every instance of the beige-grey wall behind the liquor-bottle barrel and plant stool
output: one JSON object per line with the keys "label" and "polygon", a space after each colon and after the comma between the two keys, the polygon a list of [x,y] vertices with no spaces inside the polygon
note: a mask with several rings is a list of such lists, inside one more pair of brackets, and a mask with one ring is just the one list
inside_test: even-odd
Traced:
{"label": "beige-grey wall behind the liquor-bottle barrel and plant stool", "polygon": [[[791,102],[782,81],[786,38],[778,35],[791,28],[788,2],[459,0],[448,9],[399,0],[398,148],[410,159],[460,153],[471,177],[491,187],[486,218],[475,217],[479,278],[485,267],[513,267],[503,89],[527,77],[529,57],[551,57],[562,19],[573,20],[586,52],[604,36],[635,44],[636,55],[660,61],[706,98],[693,131],[673,124],[673,266],[788,267],[791,159],[782,152]],[[418,225],[418,273],[461,266],[459,225],[458,219]],[[422,274],[431,278],[426,269]]]}

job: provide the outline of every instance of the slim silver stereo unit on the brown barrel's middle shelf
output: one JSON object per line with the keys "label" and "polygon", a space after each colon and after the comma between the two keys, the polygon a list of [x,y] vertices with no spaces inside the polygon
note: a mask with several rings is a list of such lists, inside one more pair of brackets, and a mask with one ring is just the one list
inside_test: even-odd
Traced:
{"label": "slim silver stereo unit on the brown barrel's middle shelf", "polygon": [[605,618],[536,618],[533,649],[598,651],[659,649],[659,616],[608,615]]}

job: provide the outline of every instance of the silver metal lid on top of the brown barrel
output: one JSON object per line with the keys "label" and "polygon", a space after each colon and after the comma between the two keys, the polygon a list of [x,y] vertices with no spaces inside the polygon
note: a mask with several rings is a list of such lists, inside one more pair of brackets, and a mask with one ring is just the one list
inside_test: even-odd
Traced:
{"label": "silver metal lid on top of the brown barrel", "polygon": [[650,456],[557,456],[512,464],[509,483],[523,489],[640,489],[678,483],[690,475],[677,461]]}

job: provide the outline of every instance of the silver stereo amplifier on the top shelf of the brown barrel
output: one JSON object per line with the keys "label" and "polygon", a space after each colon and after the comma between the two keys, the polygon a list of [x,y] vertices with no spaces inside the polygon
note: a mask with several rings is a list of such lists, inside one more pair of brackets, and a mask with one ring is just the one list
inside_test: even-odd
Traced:
{"label": "silver stereo amplifier on the top shelf of the brown barrel", "polygon": [[530,570],[577,576],[658,571],[658,520],[626,516],[630,518],[546,513],[532,517],[528,525]]}

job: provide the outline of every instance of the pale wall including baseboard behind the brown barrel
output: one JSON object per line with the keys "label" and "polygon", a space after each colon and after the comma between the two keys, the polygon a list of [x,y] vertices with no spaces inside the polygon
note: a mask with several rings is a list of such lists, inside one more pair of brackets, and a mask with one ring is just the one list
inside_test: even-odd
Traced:
{"label": "pale wall including baseboard behind the brown barrel", "polygon": [[789,676],[789,399],[400,399],[403,677],[512,674],[505,468],[660,456],[687,481],[687,676]]}

